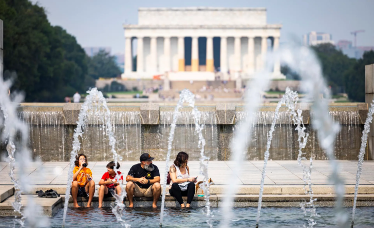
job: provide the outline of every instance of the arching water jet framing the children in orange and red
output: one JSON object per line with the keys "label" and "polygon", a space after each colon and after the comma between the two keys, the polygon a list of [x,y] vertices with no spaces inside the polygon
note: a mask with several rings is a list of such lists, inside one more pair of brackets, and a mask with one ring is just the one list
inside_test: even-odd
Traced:
{"label": "arching water jet framing the children in orange and red", "polygon": [[[66,188],[66,198],[65,198],[65,205],[64,205],[64,215],[63,215],[63,226],[65,225],[66,220],[66,213],[68,210],[68,201],[69,201],[69,193],[70,187],[73,180],[73,169],[74,169],[74,162],[76,156],[78,155],[78,151],[81,149],[81,144],[79,142],[79,138],[83,138],[83,130],[85,129],[85,120],[88,114],[94,114],[100,117],[102,122],[102,132],[106,134],[109,138],[109,145],[111,147],[111,152],[113,153],[114,162],[117,164],[119,156],[116,152],[116,139],[113,134],[113,126],[110,118],[110,111],[106,104],[106,100],[102,95],[102,92],[98,91],[97,88],[93,88],[90,91],[87,91],[88,96],[86,97],[85,102],[82,105],[81,112],[78,115],[77,127],[74,130],[73,135],[73,149],[70,153],[70,167],[68,173],[68,183]],[[116,179],[120,179],[120,175],[118,174],[117,167],[114,166],[114,171],[116,172]],[[126,222],[122,219],[122,211],[125,205],[123,204],[123,199],[126,196],[126,191],[123,188],[123,184],[119,181],[119,186],[121,187],[121,194],[117,195],[114,194],[116,198],[116,204],[112,208],[112,212],[116,215],[117,220],[121,223],[122,226],[126,228],[131,227],[130,225],[126,224]]]}

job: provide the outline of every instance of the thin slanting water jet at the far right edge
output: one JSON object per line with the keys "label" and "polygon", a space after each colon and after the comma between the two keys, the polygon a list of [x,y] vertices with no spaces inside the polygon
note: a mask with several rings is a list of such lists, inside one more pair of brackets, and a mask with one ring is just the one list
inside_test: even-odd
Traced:
{"label": "thin slanting water jet at the far right edge", "polygon": [[352,209],[352,221],[351,221],[351,228],[353,228],[354,221],[355,221],[355,212],[356,212],[356,205],[357,205],[357,194],[358,194],[358,185],[360,184],[360,176],[362,172],[362,164],[364,163],[364,155],[366,151],[366,144],[368,142],[368,134],[370,132],[370,124],[373,121],[373,114],[374,114],[374,99],[371,103],[371,107],[368,111],[368,117],[366,117],[364,130],[362,131],[361,137],[361,147],[360,153],[358,155],[358,163],[357,163],[357,174],[356,174],[356,185],[355,185],[355,198],[353,201],[353,209]]}

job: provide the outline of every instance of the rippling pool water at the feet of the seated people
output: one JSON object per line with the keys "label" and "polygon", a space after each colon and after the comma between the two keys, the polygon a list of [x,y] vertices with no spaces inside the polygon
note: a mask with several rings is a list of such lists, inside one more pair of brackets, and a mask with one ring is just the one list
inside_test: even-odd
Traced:
{"label": "rippling pool water at the feet of the seated people", "polygon": [[[223,217],[220,208],[211,208],[214,217],[212,218],[213,227],[218,227]],[[344,208],[347,213],[352,212],[352,208]],[[233,208],[233,218],[230,227],[255,227],[257,208]],[[317,213],[321,217],[317,218],[315,227],[336,227],[335,213],[333,208],[319,207]],[[205,223],[207,217],[204,215],[203,208],[165,208],[163,227],[208,227]],[[374,207],[358,207],[356,210],[355,228],[374,227]],[[152,208],[126,208],[123,219],[131,224],[132,228],[158,228],[160,209]],[[50,219],[50,227],[61,228],[63,210],[60,209],[54,217]],[[0,217],[0,227],[14,227],[13,217]],[[272,227],[303,227],[306,218],[300,208],[279,208],[265,207],[261,210],[260,228]],[[17,226],[16,226],[17,227]],[[26,221],[27,227],[27,221]],[[111,208],[69,208],[66,218],[66,227],[79,228],[113,228],[120,227],[116,216]]]}

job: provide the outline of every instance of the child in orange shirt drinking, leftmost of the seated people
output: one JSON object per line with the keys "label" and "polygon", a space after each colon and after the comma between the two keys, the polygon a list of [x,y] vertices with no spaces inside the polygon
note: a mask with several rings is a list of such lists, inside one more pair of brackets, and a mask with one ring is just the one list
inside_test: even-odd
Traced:
{"label": "child in orange shirt drinking, leftmost of the seated people", "polygon": [[73,182],[70,188],[70,195],[73,197],[75,208],[79,208],[77,197],[87,197],[87,208],[91,207],[93,195],[95,194],[95,182],[92,179],[92,171],[87,168],[88,161],[84,154],[75,157],[73,170]]}

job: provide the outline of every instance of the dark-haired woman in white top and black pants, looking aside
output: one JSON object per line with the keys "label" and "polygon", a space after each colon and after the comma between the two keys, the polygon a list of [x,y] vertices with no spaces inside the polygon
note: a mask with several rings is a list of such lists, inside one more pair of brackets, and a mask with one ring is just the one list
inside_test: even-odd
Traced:
{"label": "dark-haired woman in white top and black pants, looking aside", "polygon": [[182,196],[187,196],[186,207],[189,208],[193,196],[195,195],[195,183],[196,178],[189,177],[188,169],[188,154],[185,152],[179,152],[177,158],[174,160],[174,164],[170,166],[170,185],[169,193],[174,196],[179,202],[182,208],[185,207]]}

